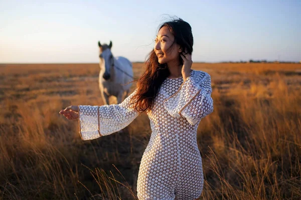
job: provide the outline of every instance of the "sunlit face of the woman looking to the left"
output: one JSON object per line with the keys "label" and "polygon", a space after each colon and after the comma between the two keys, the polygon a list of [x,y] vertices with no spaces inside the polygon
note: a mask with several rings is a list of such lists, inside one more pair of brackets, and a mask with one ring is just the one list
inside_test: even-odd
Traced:
{"label": "sunlit face of the woman looking to the left", "polygon": [[[175,37],[167,27],[162,27],[155,40],[154,51],[160,64],[168,63],[172,60],[179,59],[181,48],[174,43]],[[170,48],[171,47],[171,48]]]}

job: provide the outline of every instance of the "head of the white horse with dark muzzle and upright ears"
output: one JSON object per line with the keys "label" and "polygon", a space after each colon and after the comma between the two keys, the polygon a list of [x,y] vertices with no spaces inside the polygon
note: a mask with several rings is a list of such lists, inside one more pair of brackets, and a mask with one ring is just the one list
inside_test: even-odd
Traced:
{"label": "head of the white horse with dark muzzle and upright ears", "polygon": [[103,70],[103,78],[105,80],[109,80],[111,77],[111,68],[114,67],[114,57],[111,52],[112,41],[110,41],[109,45],[100,44],[98,41],[99,47],[99,59],[100,59],[100,70]]}

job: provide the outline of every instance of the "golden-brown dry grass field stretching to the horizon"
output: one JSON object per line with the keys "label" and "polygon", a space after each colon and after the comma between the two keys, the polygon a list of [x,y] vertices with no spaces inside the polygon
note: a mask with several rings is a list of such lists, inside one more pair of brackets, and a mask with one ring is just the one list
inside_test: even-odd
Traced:
{"label": "golden-brown dry grass field stretching to the horizon", "polygon": [[[138,77],[143,63],[133,65]],[[301,199],[301,64],[193,69],[211,75],[214,101],[198,127],[202,199]],[[147,115],[82,141],[78,122],[59,114],[103,104],[98,73],[98,64],[0,65],[0,199],[137,199]]]}

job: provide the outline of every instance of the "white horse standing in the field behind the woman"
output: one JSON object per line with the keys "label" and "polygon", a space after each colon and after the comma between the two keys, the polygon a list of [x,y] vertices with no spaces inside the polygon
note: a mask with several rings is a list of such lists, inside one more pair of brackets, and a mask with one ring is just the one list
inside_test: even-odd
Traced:
{"label": "white horse standing in the field behind the woman", "polygon": [[111,53],[112,41],[109,45],[99,46],[99,89],[104,104],[109,104],[109,97],[115,96],[117,104],[129,95],[133,80],[133,68],[131,62],[124,57],[114,57]]}

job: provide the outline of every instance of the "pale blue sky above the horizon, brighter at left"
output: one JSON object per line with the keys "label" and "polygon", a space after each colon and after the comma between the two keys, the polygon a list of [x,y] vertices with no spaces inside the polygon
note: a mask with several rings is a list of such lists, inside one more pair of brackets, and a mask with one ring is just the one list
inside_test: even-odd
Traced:
{"label": "pale blue sky above the horizon, brighter at left", "polygon": [[167,15],[191,25],[194,62],[301,60],[300,0],[0,0],[0,11],[0,63],[97,63],[99,40],[144,61]]}

